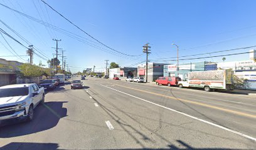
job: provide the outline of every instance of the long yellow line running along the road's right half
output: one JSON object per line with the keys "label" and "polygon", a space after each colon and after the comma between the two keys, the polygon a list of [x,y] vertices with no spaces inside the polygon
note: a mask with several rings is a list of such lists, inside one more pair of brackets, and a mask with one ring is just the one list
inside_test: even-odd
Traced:
{"label": "long yellow line running along the road's right half", "polygon": [[[119,84],[115,84],[115,85],[116,86],[121,86]],[[225,112],[232,113],[232,114],[238,114],[240,116],[246,116],[246,117],[249,117],[249,118],[256,118],[256,115],[253,115],[253,114],[247,114],[247,113],[242,113],[240,111],[233,111],[233,110],[230,110],[230,109],[220,108],[218,106],[212,106],[210,104],[204,104],[204,103],[200,103],[200,102],[189,101],[189,100],[186,100],[186,99],[179,99],[179,98],[175,98],[173,96],[166,96],[166,95],[163,95],[163,94],[152,93],[152,92],[149,92],[149,91],[144,91],[142,89],[129,88],[127,86],[121,86],[121,87],[128,88],[128,89],[134,89],[136,91],[141,91],[141,92],[144,92],[144,93],[154,94],[154,95],[157,95],[157,96],[163,96],[165,98],[174,99],[176,101],[183,101],[183,102],[186,102],[186,103],[196,104],[196,105],[199,105],[199,106],[205,106],[206,108],[218,109],[220,111],[225,111]]]}

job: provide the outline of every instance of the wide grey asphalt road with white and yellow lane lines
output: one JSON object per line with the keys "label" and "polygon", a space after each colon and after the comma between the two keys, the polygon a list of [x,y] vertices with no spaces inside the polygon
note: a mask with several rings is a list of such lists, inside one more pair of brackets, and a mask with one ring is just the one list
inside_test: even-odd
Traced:
{"label": "wide grey asphalt road with white and yellow lane lines", "polygon": [[256,98],[87,78],[46,94],[0,149],[256,149]]}

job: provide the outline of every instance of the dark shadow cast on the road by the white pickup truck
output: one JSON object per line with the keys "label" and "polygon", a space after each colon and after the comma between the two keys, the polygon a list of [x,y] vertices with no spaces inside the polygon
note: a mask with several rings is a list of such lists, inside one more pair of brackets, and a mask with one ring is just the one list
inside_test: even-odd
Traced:
{"label": "dark shadow cast on the road by the white pickup truck", "polygon": [[55,127],[61,118],[67,116],[66,101],[46,102],[35,109],[33,121],[9,124],[0,128],[0,138],[11,138],[38,133]]}

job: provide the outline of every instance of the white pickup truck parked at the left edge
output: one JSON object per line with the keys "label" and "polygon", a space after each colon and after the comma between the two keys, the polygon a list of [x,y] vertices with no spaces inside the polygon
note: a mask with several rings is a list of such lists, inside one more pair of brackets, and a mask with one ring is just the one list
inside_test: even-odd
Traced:
{"label": "white pickup truck parked at the left edge", "polygon": [[31,121],[36,106],[45,103],[45,90],[35,83],[1,86],[0,102],[0,124],[12,119]]}

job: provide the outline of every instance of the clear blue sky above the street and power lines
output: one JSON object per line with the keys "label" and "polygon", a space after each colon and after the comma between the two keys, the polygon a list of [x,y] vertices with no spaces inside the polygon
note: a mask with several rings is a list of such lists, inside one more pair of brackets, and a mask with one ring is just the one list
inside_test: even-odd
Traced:
{"label": "clear blue sky above the street and power lines", "polygon": [[[48,58],[53,58],[52,54],[55,53],[54,49],[51,48],[56,46],[53,38],[61,39],[59,47],[65,50],[68,65],[73,67],[92,68],[95,65],[96,70],[100,71],[104,70],[105,59],[109,59],[110,62],[114,61],[120,66],[130,66],[144,61],[146,58],[146,55],[124,56],[114,53],[111,49],[97,44],[97,42],[95,43],[93,39],[65,21],[40,0],[0,0],[0,2],[90,40],[78,41],[0,6],[0,19],[40,51],[43,51]],[[142,46],[149,42],[152,50],[149,59],[175,57],[176,47],[171,45],[172,42],[179,46],[179,56],[256,45],[256,1],[48,0],[46,2],[84,31],[122,53],[142,54]],[[1,22],[0,27],[28,46]],[[24,47],[7,36],[5,38],[16,53],[26,55]],[[24,62],[16,57],[1,57],[13,54],[11,54],[10,51],[12,50],[2,36],[0,36],[0,41],[0,58]],[[88,44],[93,44],[94,47]],[[102,50],[95,48],[95,46],[102,47]],[[240,49],[211,54],[211,56],[242,53],[248,50]],[[196,57],[198,56],[190,58]],[[226,61],[248,60],[248,54],[227,56],[226,58]],[[23,59],[27,60],[28,56],[24,56]],[[35,56],[35,64],[38,64],[40,60],[46,64],[45,60]],[[221,58],[196,59],[181,61],[181,63],[198,61],[220,62]],[[73,72],[82,70],[70,69]]]}

